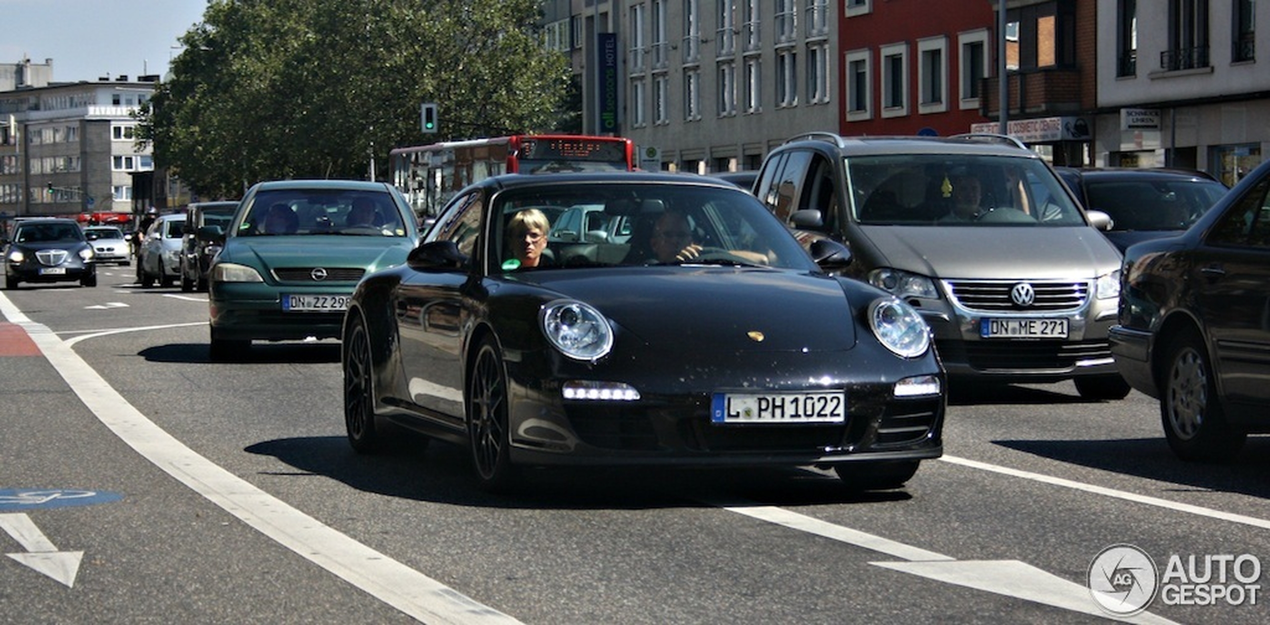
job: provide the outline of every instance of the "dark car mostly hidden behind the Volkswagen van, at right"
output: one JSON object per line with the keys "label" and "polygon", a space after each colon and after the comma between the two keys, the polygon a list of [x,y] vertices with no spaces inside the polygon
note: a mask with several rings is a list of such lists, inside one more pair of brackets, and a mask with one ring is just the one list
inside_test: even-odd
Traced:
{"label": "dark car mostly hidden behind the Volkswagen van, at right", "polygon": [[1086,210],[1111,216],[1102,234],[1120,252],[1190,227],[1228,191],[1204,171],[1166,168],[1054,168]]}

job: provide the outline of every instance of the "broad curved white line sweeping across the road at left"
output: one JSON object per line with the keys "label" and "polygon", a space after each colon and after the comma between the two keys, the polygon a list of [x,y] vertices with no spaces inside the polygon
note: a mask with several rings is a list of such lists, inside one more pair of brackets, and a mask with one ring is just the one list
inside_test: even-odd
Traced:
{"label": "broad curved white line sweeping across the road at left", "polygon": [[199,456],[141,414],[66,342],[27,318],[4,293],[0,293],[0,312],[27,330],[84,405],[119,440],[279,545],[423,622],[519,622],[323,525]]}

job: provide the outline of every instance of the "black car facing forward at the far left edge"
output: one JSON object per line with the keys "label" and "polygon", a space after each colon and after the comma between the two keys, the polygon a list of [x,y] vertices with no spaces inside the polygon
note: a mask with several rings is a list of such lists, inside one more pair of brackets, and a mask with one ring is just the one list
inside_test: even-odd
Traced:
{"label": "black car facing forward at the far left edge", "polygon": [[74,220],[24,218],[5,243],[5,288],[18,288],[19,282],[97,286],[93,246]]}

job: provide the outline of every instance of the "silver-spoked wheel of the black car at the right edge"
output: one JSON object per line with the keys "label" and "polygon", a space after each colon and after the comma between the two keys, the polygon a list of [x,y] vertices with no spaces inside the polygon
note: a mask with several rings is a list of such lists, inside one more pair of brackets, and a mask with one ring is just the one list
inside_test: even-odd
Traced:
{"label": "silver-spoked wheel of the black car at the right edge", "polygon": [[1231,460],[1247,434],[1226,422],[1204,340],[1198,332],[1186,330],[1166,346],[1160,420],[1168,446],[1182,460]]}

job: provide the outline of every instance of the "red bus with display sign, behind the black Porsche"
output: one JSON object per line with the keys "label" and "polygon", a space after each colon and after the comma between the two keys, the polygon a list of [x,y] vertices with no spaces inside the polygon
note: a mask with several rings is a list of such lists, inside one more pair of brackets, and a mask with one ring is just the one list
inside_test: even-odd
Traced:
{"label": "red bus with display sign, behind the black Porsche", "polygon": [[499,174],[635,169],[622,137],[511,135],[398,147],[389,154],[392,184],[420,220],[436,217],[458,189]]}

